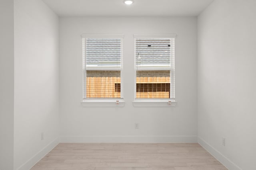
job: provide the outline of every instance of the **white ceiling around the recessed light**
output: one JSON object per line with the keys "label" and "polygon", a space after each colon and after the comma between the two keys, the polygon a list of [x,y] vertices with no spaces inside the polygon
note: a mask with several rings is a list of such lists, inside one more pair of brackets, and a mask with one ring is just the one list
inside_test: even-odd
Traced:
{"label": "white ceiling around the recessed light", "polygon": [[198,16],[213,0],[43,0],[58,16]]}

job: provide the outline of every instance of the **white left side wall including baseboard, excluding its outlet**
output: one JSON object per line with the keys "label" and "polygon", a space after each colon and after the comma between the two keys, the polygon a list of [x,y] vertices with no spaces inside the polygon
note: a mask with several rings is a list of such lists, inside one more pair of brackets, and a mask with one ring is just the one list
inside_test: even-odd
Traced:
{"label": "white left side wall including baseboard, excluding its outlet", "polygon": [[28,170],[58,143],[58,16],[15,0],[14,35],[14,169]]}

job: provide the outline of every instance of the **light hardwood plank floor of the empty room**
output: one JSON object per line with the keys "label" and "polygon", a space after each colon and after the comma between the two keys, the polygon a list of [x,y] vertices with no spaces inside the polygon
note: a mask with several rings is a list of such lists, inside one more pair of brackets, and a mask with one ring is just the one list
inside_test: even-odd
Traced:
{"label": "light hardwood plank floor of the empty room", "polygon": [[227,170],[198,143],[60,143],[31,170]]}

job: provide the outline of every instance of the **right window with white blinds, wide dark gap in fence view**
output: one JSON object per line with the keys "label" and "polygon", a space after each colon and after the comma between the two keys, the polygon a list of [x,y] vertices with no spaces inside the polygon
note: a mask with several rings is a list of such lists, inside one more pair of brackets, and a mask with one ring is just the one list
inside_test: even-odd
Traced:
{"label": "right window with white blinds, wide dark gap in fence view", "polygon": [[175,101],[175,35],[134,35],[135,102]]}

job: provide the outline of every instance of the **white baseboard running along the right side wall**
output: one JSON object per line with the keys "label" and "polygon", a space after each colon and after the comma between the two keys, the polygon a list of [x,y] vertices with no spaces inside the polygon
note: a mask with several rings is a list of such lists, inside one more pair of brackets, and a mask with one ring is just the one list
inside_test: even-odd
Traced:
{"label": "white baseboard running along the right side wall", "polygon": [[220,153],[218,150],[216,150],[214,147],[204,141],[204,139],[202,139],[201,137],[198,137],[198,143],[229,170],[242,170],[242,168],[234,164],[234,162],[229,160],[226,156],[224,156],[222,153]]}

